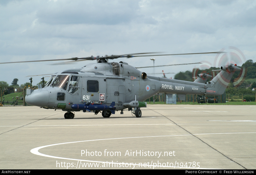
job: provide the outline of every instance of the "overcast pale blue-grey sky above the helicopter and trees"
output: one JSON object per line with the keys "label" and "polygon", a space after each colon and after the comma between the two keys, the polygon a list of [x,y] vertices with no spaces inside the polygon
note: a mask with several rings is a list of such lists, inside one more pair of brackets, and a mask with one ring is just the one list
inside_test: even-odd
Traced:
{"label": "overcast pale blue-grey sky above the helicopter and trees", "polygon": [[[233,55],[239,58],[235,61],[241,66],[249,59],[256,62],[255,5],[255,0],[1,0],[0,62],[224,50],[236,53]],[[154,58],[155,65],[204,62],[213,66],[220,64],[219,57],[221,55],[208,54]],[[135,67],[152,66],[150,58],[113,61],[124,61]],[[26,77],[29,75],[51,74],[95,62],[0,64],[0,81],[11,85],[13,79],[18,78],[21,85],[30,82],[30,77]],[[204,65],[140,70],[147,74],[162,70],[178,73],[192,71],[194,67]],[[41,78],[33,77],[33,85]]]}

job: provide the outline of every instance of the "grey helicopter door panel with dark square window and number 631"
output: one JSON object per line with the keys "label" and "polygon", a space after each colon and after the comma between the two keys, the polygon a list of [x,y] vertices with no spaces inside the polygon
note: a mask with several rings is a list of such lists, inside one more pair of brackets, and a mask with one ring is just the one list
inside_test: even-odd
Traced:
{"label": "grey helicopter door panel with dark square window and number 631", "polygon": [[106,103],[106,78],[82,77],[82,79],[81,100]]}

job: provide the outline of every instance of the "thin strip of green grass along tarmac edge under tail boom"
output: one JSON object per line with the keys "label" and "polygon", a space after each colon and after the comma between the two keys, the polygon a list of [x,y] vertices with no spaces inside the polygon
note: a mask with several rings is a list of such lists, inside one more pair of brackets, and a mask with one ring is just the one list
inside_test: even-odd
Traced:
{"label": "thin strip of green grass along tarmac edge under tail boom", "polygon": [[[154,104],[152,101],[146,101],[147,104]],[[164,104],[164,102],[155,102],[155,104]],[[192,104],[192,105],[256,105],[256,102],[226,102],[226,103],[193,103],[193,102],[177,102],[177,104]]]}

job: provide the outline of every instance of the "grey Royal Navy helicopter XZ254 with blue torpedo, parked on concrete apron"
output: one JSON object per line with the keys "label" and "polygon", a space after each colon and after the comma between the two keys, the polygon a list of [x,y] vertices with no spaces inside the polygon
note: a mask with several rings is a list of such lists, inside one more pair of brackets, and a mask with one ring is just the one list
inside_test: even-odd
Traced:
{"label": "grey Royal Navy helicopter XZ254 with blue torpedo, parked on concrete apron", "polygon": [[[152,53],[155,52],[150,54]],[[175,93],[181,100],[185,98],[185,94],[221,95],[228,86],[234,72],[241,70],[236,64],[224,65],[221,66],[220,73],[210,82],[200,83],[200,79],[196,82],[188,82],[147,76],[145,72],[141,72],[125,62],[107,62],[109,59],[125,57],[164,56],[145,54],[149,53],[58,59],[73,61],[98,60],[98,63],[52,74],[44,87],[39,85],[37,90],[27,89],[25,101],[29,105],[45,109],[67,111],[64,114],[66,119],[74,118],[74,113],[72,112],[76,111],[94,112],[96,115],[101,112],[103,117],[110,117],[111,114],[115,114],[115,111],[121,111],[121,114],[123,114],[123,110],[127,108],[136,117],[141,117],[140,108],[147,105],[143,101],[157,93]]]}

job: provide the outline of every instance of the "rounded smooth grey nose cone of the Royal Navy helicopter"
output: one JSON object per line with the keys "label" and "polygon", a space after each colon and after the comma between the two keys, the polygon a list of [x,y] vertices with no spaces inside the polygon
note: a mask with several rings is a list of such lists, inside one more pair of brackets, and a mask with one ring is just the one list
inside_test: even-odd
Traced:
{"label": "rounded smooth grey nose cone of the Royal Navy helicopter", "polygon": [[30,95],[26,95],[25,101],[29,105],[44,107],[49,101],[49,92],[47,90],[34,90]]}

